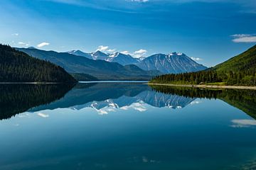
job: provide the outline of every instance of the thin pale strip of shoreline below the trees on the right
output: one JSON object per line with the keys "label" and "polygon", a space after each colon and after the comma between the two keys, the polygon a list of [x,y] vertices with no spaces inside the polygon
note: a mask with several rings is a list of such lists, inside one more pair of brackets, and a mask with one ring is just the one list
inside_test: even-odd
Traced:
{"label": "thin pale strip of shoreline below the trees on the right", "polygon": [[204,89],[248,89],[256,90],[256,86],[217,86],[217,85],[193,85],[193,84],[154,84],[148,83],[149,85],[156,86],[181,86],[181,87],[193,87],[193,88],[204,88]]}

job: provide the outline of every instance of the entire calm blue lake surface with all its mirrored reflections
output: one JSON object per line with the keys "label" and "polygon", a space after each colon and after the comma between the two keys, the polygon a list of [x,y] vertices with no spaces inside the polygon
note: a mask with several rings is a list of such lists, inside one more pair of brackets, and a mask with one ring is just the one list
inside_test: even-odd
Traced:
{"label": "entire calm blue lake surface with all its mirrored reflections", "polygon": [[256,166],[255,91],[135,82],[0,91],[1,170]]}

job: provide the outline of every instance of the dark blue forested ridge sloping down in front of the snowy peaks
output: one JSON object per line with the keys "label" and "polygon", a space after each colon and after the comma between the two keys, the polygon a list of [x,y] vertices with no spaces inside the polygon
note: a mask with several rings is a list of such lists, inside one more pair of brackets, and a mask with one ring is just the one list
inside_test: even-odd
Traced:
{"label": "dark blue forested ridge sloping down in front of the snowy peaks", "polygon": [[63,67],[69,73],[90,74],[100,80],[149,80],[161,72],[157,70],[145,71],[139,67],[128,64],[104,60],[90,60],[87,57],[71,55],[67,52],[38,50],[35,48],[16,48],[32,57],[47,60]]}

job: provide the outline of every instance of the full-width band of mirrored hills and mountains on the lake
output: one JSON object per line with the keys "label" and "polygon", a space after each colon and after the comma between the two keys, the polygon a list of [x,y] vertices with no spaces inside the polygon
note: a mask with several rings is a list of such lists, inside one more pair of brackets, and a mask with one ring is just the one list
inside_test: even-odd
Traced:
{"label": "full-width band of mirrored hills and mountains on the lake", "polygon": [[[73,89],[72,89],[73,88]],[[157,108],[184,108],[196,98],[219,98],[256,118],[256,91],[231,89],[193,89],[148,86],[142,83],[93,83],[34,85],[0,85],[0,118],[6,119],[25,111],[55,108],[95,108],[100,114],[114,109],[134,108],[146,111],[145,104]],[[63,97],[64,96],[64,97]]]}

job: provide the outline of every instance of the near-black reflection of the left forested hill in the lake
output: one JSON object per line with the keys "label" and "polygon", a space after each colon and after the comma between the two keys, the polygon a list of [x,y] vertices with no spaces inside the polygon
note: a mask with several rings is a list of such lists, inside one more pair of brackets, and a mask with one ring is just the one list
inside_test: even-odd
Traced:
{"label": "near-black reflection of the left forested hill in the lake", "polygon": [[73,84],[0,84],[0,120],[62,98]]}

